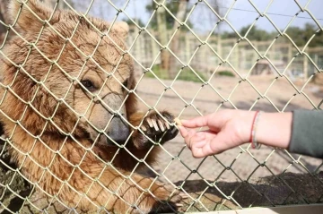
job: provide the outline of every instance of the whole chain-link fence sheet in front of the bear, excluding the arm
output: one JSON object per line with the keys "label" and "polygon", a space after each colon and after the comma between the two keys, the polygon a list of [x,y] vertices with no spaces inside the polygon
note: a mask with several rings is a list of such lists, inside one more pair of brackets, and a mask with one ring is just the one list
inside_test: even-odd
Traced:
{"label": "whole chain-link fence sheet in front of the bear, excluding the arm", "polygon": [[[320,109],[322,17],[311,8],[322,4],[291,1],[295,13],[286,15],[270,11],[281,1],[245,1],[249,9],[242,11],[254,18],[242,33],[231,16],[239,1],[223,2],[1,2],[1,212],[160,213],[322,202],[319,159],[249,145],[194,159],[175,137],[175,116]],[[131,8],[144,3],[148,18],[133,18]],[[192,17],[200,8],[213,17],[212,27],[197,33]],[[108,22],[89,13],[114,15]],[[283,29],[273,14],[287,17]],[[313,23],[310,36],[290,33],[299,18]],[[252,37],[261,20],[275,29],[260,33],[266,40]]]}

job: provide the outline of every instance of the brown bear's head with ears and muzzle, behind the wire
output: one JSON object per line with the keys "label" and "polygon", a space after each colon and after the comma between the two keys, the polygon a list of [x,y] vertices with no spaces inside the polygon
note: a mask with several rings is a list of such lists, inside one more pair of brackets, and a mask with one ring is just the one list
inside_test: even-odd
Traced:
{"label": "brown bear's head with ears and muzzle, behind the wire", "polygon": [[127,24],[53,11],[36,0],[10,2],[13,37],[0,53],[1,117],[40,137],[126,141],[135,87]]}

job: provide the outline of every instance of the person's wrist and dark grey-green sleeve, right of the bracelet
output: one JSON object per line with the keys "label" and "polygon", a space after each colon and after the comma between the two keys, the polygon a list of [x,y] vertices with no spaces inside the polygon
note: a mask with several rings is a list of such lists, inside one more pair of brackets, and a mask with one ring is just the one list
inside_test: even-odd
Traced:
{"label": "person's wrist and dark grey-green sleeve, right of the bracelet", "polygon": [[323,112],[263,113],[257,124],[256,137],[259,143],[267,146],[323,158]]}

